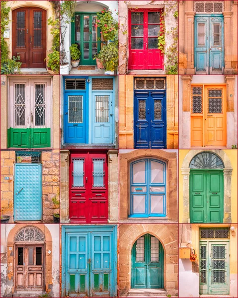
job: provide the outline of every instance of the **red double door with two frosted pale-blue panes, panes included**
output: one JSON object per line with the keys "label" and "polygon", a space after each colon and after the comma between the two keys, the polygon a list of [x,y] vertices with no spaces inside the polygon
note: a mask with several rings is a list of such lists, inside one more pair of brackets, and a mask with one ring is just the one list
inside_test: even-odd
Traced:
{"label": "red double door with two frosted pale-blue panes, panes included", "polygon": [[80,152],[70,157],[70,222],[107,223],[107,153]]}

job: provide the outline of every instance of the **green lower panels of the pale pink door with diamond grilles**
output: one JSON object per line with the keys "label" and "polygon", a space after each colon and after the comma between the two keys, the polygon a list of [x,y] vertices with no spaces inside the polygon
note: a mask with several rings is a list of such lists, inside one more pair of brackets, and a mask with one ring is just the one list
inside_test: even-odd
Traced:
{"label": "green lower panels of the pale pink door with diamond grilles", "polygon": [[50,128],[9,128],[7,148],[50,147]]}

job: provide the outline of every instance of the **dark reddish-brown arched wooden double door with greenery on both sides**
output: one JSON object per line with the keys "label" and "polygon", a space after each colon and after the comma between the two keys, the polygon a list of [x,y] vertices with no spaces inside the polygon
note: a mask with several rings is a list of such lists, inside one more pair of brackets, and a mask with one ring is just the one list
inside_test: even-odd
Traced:
{"label": "dark reddish-brown arched wooden double door with greenery on both sides", "polygon": [[46,67],[46,11],[24,7],[12,11],[12,56],[21,68]]}

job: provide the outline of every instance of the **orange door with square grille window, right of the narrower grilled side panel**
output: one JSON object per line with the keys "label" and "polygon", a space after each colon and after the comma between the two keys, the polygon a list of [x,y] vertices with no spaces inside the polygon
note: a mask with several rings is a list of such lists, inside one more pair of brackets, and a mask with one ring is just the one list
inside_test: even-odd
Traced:
{"label": "orange door with square grille window, right of the narrower grilled side panel", "polygon": [[227,98],[224,86],[205,86],[205,146],[227,145]]}

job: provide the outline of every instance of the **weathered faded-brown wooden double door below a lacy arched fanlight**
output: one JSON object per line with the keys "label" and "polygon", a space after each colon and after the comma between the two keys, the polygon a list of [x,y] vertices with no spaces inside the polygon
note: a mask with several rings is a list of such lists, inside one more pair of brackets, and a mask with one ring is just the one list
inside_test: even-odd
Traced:
{"label": "weathered faded-brown wooden double door below a lacy arched fanlight", "polygon": [[16,245],[16,291],[44,291],[44,245]]}

